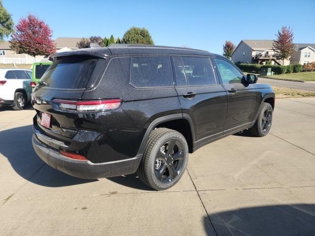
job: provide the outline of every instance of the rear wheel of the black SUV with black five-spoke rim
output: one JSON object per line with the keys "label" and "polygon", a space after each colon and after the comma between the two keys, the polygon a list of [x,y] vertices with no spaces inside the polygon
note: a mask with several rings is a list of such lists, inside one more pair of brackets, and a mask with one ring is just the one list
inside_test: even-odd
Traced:
{"label": "rear wheel of the black SUV with black five-spoke rim", "polygon": [[156,190],[174,186],[188,163],[188,145],[184,136],[172,129],[151,132],[137,174],[141,181]]}

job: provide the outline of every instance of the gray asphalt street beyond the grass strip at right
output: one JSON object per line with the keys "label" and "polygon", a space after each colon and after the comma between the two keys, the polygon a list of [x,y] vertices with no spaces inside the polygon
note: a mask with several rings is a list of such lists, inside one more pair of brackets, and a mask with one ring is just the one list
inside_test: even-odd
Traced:
{"label": "gray asphalt street beyond the grass strip at right", "polygon": [[269,84],[271,86],[284,87],[289,89],[300,89],[306,91],[315,91],[315,82],[294,82],[285,80],[274,80],[258,77],[258,83]]}

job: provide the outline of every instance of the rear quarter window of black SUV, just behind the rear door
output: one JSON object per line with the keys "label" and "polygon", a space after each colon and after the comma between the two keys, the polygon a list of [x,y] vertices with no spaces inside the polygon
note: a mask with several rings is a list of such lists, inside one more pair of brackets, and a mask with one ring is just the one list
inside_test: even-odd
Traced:
{"label": "rear quarter window of black SUV, just behind the rear door", "polygon": [[136,88],[173,86],[170,57],[131,57],[130,83]]}

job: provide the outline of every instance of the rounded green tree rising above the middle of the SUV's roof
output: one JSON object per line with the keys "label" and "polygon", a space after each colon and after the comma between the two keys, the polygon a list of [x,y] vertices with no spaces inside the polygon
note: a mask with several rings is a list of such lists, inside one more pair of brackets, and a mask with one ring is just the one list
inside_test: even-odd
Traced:
{"label": "rounded green tree rising above the middle of the SUV's roof", "polygon": [[148,29],[131,27],[126,31],[123,37],[124,43],[130,44],[151,44],[154,45],[154,42],[151,38]]}

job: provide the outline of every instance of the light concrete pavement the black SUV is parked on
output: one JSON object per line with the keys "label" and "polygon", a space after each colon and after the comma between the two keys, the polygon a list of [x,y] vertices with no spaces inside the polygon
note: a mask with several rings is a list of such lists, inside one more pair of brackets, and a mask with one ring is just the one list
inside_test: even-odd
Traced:
{"label": "light concrete pavement the black SUV is parked on", "polygon": [[161,192],[50,168],[32,150],[33,115],[0,108],[0,235],[315,235],[315,98],[278,99],[269,135],[198,149]]}

